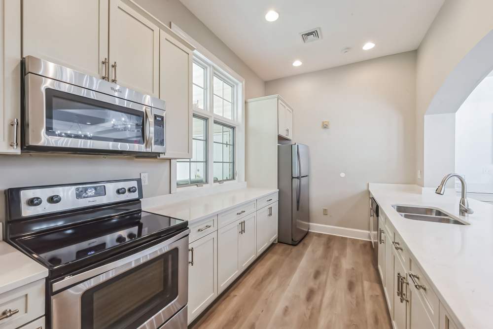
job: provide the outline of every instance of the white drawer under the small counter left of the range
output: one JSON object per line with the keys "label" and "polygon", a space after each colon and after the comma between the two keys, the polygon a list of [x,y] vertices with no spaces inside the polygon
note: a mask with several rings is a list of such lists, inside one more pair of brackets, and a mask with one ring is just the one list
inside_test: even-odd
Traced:
{"label": "white drawer under the small counter left of the range", "polygon": [[[7,310],[15,312],[0,320],[0,328],[17,328],[44,315],[44,279],[0,295],[0,317]],[[31,328],[31,327],[27,327]]]}

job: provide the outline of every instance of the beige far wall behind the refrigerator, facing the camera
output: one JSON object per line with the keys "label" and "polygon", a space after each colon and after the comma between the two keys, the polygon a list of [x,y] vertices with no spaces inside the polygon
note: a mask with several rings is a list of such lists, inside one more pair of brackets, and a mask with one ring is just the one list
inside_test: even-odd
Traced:
{"label": "beige far wall behind the refrigerator, facing the camera", "polygon": [[367,230],[367,183],[414,182],[415,70],[412,51],[266,82],[310,146],[312,222]]}

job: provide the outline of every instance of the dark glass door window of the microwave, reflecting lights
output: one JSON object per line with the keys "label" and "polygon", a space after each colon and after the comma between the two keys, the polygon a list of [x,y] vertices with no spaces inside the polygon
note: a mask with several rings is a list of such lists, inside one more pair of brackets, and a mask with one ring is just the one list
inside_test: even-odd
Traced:
{"label": "dark glass door window of the microwave, reflecting lights", "polygon": [[144,143],[144,112],[46,89],[46,135],[126,144]]}

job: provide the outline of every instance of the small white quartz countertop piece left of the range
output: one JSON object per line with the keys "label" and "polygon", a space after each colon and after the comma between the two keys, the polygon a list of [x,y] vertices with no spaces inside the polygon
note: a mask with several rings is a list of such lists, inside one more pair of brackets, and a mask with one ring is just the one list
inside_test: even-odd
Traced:
{"label": "small white quartz countertop piece left of the range", "polygon": [[48,269],[0,241],[0,293],[46,278]]}

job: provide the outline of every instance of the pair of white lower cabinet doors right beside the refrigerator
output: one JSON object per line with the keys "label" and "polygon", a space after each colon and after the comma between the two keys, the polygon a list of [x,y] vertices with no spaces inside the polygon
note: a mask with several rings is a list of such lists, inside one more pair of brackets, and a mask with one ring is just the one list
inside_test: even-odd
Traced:
{"label": "pair of white lower cabinet doors right beside the refrigerator", "polygon": [[257,255],[278,237],[278,202],[257,211]]}

